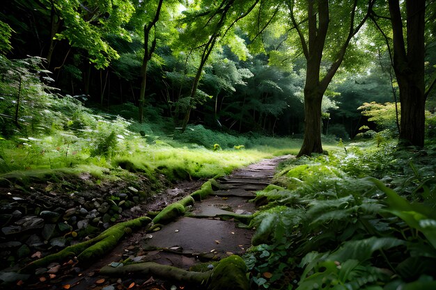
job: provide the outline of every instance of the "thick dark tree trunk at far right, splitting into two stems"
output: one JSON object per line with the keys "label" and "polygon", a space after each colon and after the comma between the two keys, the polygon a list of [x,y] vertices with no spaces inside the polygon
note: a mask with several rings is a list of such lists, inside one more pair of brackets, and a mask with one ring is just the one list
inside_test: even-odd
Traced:
{"label": "thick dark tree trunk at far right, splitting into two stems", "polygon": [[407,52],[398,1],[389,0],[394,32],[394,71],[400,89],[400,143],[423,147],[425,136],[425,0],[407,0]]}

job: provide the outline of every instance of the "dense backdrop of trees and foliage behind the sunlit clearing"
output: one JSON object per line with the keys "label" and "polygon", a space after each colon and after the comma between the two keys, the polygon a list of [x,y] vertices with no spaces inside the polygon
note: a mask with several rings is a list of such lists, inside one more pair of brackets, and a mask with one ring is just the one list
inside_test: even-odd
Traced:
{"label": "dense backdrop of trees and foliage behind the sunlit clearing", "polygon": [[[127,109],[120,115],[127,119],[139,119],[132,108],[144,104],[143,115],[171,118],[173,128],[183,127],[192,110],[189,124],[302,136],[306,62],[286,5],[235,4],[220,24],[215,19],[212,23],[212,13],[223,13],[214,1],[158,2],[8,1],[1,16],[11,29],[13,49],[3,51],[8,58],[45,58],[42,66],[52,74],[44,81],[60,88],[58,93],[103,110],[118,111],[116,106],[125,104]],[[377,5],[377,13],[386,13],[382,3]],[[235,18],[235,13],[247,16]],[[427,20],[428,78],[436,57],[432,17]],[[334,25],[332,34],[343,33]],[[215,35],[213,44],[208,42],[210,35]],[[326,49],[333,51],[334,46],[330,43]],[[322,70],[330,64],[327,57]],[[198,71],[201,78],[192,95]],[[427,102],[431,110],[433,95]],[[368,21],[352,39],[343,67],[324,94],[322,134],[347,140],[362,133],[362,126],[375,129],[358,108],[364,102],[384,104],[396,99],[398,86],[389,51]]]}

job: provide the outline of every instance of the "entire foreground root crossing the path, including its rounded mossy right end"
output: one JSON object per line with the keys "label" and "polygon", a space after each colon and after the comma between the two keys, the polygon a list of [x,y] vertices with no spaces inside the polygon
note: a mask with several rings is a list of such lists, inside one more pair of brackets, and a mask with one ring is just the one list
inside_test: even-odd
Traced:
{"label": "entire foreground root crossing the path, including its rounded mossy right end", "polygon": [[104,266],[101,275],[122,276],[129,273],[137,275],[153,275],[173,282],[192,284],[207,290],[248,290],[247,267],[241,257],[233,255],[222,259],[213,271],[186,271],[173,266],[160,265],[153,262],[131,264],[113,268]]}

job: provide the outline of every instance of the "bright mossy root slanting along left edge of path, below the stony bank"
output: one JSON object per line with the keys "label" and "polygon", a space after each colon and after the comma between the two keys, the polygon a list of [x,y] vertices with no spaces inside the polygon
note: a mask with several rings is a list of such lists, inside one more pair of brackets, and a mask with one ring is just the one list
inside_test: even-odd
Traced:
{"label": "bright mossy root slanting along left edge of path, below the stony bank", "polygon": [[143,227],[150,223],[150,218],[143,216],[141,218],[135,218],[134,220],[127,220],[124,223],[118,223],[104,232],[96,236],[95,238],[78,243],[76,245],[70,245],[67,248],[57,252],[56,254],[48,255],[42,259],[31,262],[24,267],[20,272],[29,272],[35,268],[46,266],[53,261],[63,261],[68,258],[77,257],[80,263],[87,264],[97,257],[101,257],[105,253],[109,252],[120,239],[123,238],[126,232],[130,232],[132,229]]}

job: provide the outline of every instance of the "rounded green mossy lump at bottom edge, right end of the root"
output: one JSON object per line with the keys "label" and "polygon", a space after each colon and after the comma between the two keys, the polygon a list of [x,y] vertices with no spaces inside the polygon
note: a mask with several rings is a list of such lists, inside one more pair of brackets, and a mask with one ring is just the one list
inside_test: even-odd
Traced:
{"label": "rounded green mossy lump at bottom edge, right end of the root", "polygon": [[219,261],[219,264],[210,275],[208,290],[249,290],[247,266],[244,260],[232,255]]}

